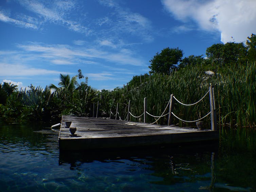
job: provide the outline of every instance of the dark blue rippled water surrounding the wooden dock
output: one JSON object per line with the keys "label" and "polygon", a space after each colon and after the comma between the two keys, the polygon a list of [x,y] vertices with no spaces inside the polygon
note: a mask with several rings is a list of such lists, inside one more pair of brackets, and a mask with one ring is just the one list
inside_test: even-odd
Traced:
{"label": "dark blue rippled water surrounding the wooden dock", "polygon": [[59,153],[50,124],[0,122],[0,191],[255,191],[255,134],[220,144]]}

